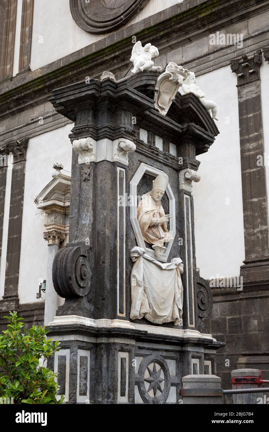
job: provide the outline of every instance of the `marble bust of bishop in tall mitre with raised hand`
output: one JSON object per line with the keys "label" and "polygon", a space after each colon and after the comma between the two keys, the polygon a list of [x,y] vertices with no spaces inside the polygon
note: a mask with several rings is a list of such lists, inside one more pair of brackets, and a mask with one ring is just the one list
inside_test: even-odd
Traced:
{"label": "marble bust of bishop in tall mitre with raised hand", "polygon": [[173,241],[167,229],[167,222],[171,216],[165,214],[161,205],[161,198],[168,186],[168,175],[160,174],[152,183],[152,191],[142,195],[137,206],[137,220],[144,241],[151,245],[164,246],[164,243]]}

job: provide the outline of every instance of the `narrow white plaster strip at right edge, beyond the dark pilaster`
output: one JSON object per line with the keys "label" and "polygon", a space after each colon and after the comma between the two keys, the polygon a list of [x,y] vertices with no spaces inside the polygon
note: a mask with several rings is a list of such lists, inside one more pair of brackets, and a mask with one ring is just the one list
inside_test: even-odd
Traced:
{"label": "narrow white plaster strip at right edge, beyond the dark pilaster", "polygon": [[264,136],[264,153],[263,162],[266,165],[266,189],[267,199],[269,202],[269,62],[263,58],[260,67],[261,78],[261,99],[263,113],[263,136]]}

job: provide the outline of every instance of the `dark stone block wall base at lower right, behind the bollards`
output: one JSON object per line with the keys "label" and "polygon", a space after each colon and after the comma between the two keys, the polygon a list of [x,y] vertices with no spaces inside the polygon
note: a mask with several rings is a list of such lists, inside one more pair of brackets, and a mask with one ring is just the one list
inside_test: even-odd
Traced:
{"label": "dark stone block wall base at lower right, behind the bollards", "polygon": [[[269,291],[226,288],[229,292],[223,294],[223,290],[212,289],[212,313],[204,320],[212,336],[226,343],[216,356],[222,388],[231,389],[231,371],[237,368],[260,369],[268,380]],[[232,397],[226,397],[225,403],[232,403]]]}

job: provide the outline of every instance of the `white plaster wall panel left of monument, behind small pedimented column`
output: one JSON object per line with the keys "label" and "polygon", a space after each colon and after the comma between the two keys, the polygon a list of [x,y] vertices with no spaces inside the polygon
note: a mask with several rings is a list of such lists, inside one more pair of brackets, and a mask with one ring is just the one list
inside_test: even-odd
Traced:
{"label": "white plaster wall panel left of monument, behind small pedimented column", "polygon": [[73,124],[67,124],[31,138],[28,142],[18,289],[21,303],[36,302],[39,279],[46,279],[47,241],[43,239],[45,219],[38,214],[40,211],[34,200],[52,180],[55,162],[62,163],[63,168],[71,172],[72,146],[68,134],[72,127]]}

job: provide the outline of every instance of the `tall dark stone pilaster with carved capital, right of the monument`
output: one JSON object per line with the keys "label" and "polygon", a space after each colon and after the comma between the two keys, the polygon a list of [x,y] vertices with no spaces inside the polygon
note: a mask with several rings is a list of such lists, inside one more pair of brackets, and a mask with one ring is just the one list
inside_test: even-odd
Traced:
{"label": "tall dark stone pilaster with carved capital, right of the monument", "polygon": [[231,64],[237,74],[241,176],[244,212],[245,260],[243,283],[269,281],[268,202],[265,166],[257,163],[264,154],[261,107],[261,50],[243,55]]}

